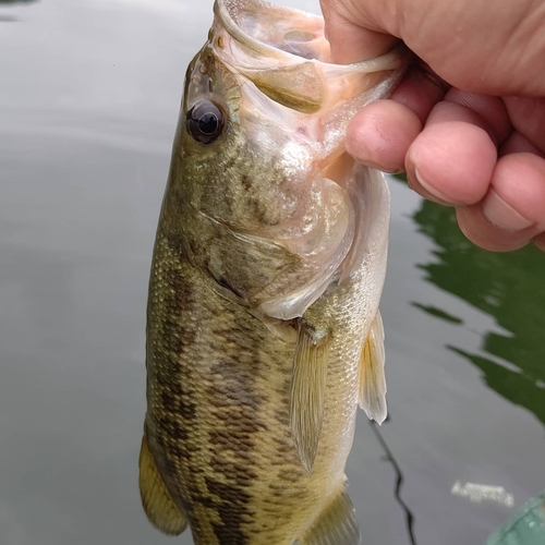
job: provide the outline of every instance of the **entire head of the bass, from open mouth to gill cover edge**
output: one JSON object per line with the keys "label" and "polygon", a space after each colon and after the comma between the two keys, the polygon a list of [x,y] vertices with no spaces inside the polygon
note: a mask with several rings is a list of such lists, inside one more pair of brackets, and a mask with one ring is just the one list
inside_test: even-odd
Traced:
{"label": "entire head of the bass, from open mouth to gill cover edge", "polygon": [[322,17],[216,1],[187,69],[169,187],[190,259],[229,296],[289,319],[338,274],[361,204],[346,128],[403,59],[335,65]]}

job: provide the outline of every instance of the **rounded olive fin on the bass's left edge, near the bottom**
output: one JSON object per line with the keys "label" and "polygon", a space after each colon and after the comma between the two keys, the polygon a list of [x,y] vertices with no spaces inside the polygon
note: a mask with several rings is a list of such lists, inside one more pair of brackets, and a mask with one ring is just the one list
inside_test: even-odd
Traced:
{"label": "rounded olive fin on the bass's left edge, near the bottom", "polygon": [[168,535],[179,535],[187,526],[187,519],[172,501],[149,452],[146,436],[140,451],[140,493],[149,522]]}

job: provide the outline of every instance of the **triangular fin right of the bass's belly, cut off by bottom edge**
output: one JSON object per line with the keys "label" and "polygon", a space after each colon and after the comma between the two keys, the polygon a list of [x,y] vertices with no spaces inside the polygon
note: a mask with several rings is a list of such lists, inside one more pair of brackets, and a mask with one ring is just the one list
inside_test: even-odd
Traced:
{"label": "triangular fin right of the bass's belly, cut off by bottom edge", "polygon": [[343,484],[296,545],[358,545],[361,542],[355,510]]}

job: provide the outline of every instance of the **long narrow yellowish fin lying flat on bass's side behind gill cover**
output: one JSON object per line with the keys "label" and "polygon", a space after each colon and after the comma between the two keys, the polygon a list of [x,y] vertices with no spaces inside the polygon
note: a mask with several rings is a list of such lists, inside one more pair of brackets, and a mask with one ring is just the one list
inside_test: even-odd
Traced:
{"label": "long narrow yellowish fin lying flat on bass's side behind gill cover", "polygon": [[299,458],[311,471],[316,458],[326,396],[329,334],[299,324],[290,392],[290,427]]}

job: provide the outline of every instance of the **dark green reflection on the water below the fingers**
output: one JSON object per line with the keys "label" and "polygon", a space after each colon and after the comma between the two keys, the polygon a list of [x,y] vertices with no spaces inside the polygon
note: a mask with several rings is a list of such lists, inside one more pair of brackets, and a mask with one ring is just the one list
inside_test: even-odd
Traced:
{"label": "dark green reflection on the water below the fingers", "polygon": [[[481,250],[460,232],[455,211],[434,203],[424,202],[413,218],[438,245],[437,259],[419,265],[427,280],[494,316],[506,330],[485,335],[482,348],[492,358],[448,348],[476,365],[491,388],[545,424],[545,254],[534,246],[507,254]],[[443,310],[414,305],[462,324]]]}

